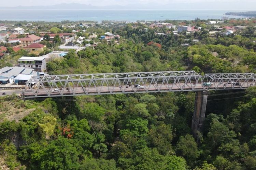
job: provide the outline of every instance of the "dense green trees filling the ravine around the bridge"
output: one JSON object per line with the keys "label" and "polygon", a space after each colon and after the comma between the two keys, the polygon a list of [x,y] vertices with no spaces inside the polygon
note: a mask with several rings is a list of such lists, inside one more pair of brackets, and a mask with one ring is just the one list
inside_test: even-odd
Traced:
{"label": "dense green trees filling the ravine around the bridge", "polygon": [[[45,24],[38,29],[70,32],[60,27],[64,23],[69,22]],[[256,73],[253,20],[225,21],[229,26],[250,26],[230,36],[211,36],[208,30],[212,26],[200,19],[183,23],[194,23],[203,29],[193,34],[162,35],[156,33],[170,30],[161,27],[145,31],[145,25],[140,23],[116,23],[109,27],[97,23],[76,34],[88,37],[110,31],[120,35],[119,42],[96,38],[95,48],[88,47],[77,54],[70,50],[63,58],[48,62],[47,71],[49,74],[171,70],[194,70],[201,75]],[[54,41],[58,43],[58,37]],[[190,46],[182,46],[186,42]],[[48,43],[47,36],[42,43]],[[51,45],[48,48],[41,54],[54,50]],[[8,51],[10,55],[0,59],[0,68],[12,66],[19,57],[29,55],[25,50],[14,52],[8,48]],[[15,95],[1,97],[0,165],[31,170],[256,169],[256,88],[209,94],[199,143],[190,128],[194,92],[26,101]]]}

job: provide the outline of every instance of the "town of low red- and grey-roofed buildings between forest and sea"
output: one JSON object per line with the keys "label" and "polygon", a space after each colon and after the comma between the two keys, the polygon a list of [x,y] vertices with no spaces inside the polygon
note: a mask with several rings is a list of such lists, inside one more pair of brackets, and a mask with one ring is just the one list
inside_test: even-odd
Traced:
{"label": "town of low red- and grey-roofed buildings between forest and sea", "polygon": [[[218,39],[239,36],[249,27],[246,23],[256,23],[253,19],[234,20],[228,17],[219,20],[198,19],[189,24],[182,21],[174,22],[175,24],[170,21],[51,23],[47,24],[47,29],[36,22],[0,23],[1,60],[15,54],[20,56],[16,61],[9,63],[12,67],[3,67],[4,64],[1,64],[3,68],[0,71],[0,84],[25,84],[33,75],[47,74],[47,62],[62,58],[69,50],[74,50],[77,54],[86,48],[94,49],[99,43],[118,45],[120,41],[125,41],[124,37],[115,32],[118,28],[129,28],[134,34],[136,31],[150,31],[155,37],[172,35],[176,37],[179,46],[188,47],[205,44],[205,37]],[[157,42],[149,41],[148,45],[152,43]],[[251,44],[255,49],[255,40],[251,40]]]}

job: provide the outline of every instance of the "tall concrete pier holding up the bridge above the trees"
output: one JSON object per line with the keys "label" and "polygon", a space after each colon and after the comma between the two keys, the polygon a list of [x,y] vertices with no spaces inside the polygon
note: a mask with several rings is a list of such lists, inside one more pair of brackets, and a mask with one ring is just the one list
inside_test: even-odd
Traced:
{"label": "tall concrete pier holding up the bridge above the trees", "polygon": [[197,91],[196,92],[196,100],[195,100],[195,109],[192,118],[192,133],[196,138],[196,141],[199,142],[199,138],[197,132],[202,132],[202,126],[205,116],[207,103],[207,90],[205,91]]}

